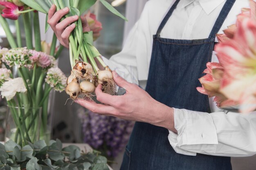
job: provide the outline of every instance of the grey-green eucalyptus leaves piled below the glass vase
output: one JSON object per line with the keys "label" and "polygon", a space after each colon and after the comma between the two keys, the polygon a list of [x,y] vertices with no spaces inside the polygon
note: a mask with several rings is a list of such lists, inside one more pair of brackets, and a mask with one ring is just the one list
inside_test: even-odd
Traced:
{"label": "grey-green eucalyptus leaves piled below the glass vase", "polygon": [[0,144],[0,170],[109,170],[107,159],[100,152],[84,152],[70,145],[62,148],[58,139],[36,141],[21,147],[13,141]]}

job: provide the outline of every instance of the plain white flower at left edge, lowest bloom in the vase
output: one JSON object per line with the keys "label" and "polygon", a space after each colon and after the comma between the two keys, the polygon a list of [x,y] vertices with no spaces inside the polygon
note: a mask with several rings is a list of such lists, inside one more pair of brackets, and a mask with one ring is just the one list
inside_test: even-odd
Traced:
{"label": "plain white flower at left edge, lowest bloom in the vase", "polygon": [[4,84],[0,87],[0,91],[2,97],[5,97],[7,101],[9,101],[16,95],[17,92],[27,92],[27,88],[25,87],[23,79],[18,77],[4,82]]}

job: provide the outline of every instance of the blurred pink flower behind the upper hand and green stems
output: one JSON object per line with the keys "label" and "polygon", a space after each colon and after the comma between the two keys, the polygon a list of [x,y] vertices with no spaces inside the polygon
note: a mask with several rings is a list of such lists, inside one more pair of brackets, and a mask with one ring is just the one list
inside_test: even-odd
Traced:
{"label": "blurred pink flower behind the upper hand and green stems", "polygon": [[95,41],[101,35],[102,24],[96,19],[96,15],[90,13],[90,11],[85,15],[85,18],[89,24],[90,30],[93,32],[93,40]]}

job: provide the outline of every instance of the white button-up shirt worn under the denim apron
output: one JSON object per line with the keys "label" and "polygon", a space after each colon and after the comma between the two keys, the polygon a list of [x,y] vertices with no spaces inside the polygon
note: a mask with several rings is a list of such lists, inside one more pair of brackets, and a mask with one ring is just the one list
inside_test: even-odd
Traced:
{"label": "white button-up shirt worn under the denim apron", "polygon": [[[103,58],[104,62],[127,81],[145,84],[153,35],[174,2],[175,0],[149,0],[139,21],[130,31],[123,50],[110,60]],[[208,38],[225,2],[226,0],[180,0],[160,36],[184,40]],[[249,8],[249,0],[236,0],[219,33],[236,22],[236,15],[244,7]],[[212,62],[218,62],[214,51]],[[212,98],[209,101],[213,112],[211,114],[175,108],[174,122],[178,133],[169,131],[168,135],[173,149],[184,155],[255,155],[256,113],[230,113],[220,110]]]}

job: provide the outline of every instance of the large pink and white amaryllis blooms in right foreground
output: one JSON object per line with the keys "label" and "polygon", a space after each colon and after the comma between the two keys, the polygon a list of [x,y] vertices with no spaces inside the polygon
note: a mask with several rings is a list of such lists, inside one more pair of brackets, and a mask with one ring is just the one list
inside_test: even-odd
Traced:
{"label": "large pink and white amaryllis blooms in right foreground", "polygon": [[215,96],[220,108],[248,113],[256,109],[256,2],[250,0],[250,9],[242,9],[224,33],[217,35],[219,63],[207,63],[197,90]]}

